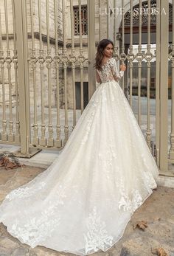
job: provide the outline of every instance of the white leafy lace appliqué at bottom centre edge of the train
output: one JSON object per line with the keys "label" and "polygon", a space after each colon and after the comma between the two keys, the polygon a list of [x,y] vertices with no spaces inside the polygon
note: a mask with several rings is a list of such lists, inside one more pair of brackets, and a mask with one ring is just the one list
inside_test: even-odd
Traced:
{"label": "white leafy lace appliqu\u00e9 at bottom centre edge of the train", "polygon": [[108,232],[105,229],[105,222],[101,221],[101,217],[98,214],[96,207],[94,207],[88,216],[87,227],[88,232],[87,234],[84,234],[86,240],[86,253],[90,251],[97,252],[99,249],[104,250],[105,245],[112,245],[113,237],[108,235]]}

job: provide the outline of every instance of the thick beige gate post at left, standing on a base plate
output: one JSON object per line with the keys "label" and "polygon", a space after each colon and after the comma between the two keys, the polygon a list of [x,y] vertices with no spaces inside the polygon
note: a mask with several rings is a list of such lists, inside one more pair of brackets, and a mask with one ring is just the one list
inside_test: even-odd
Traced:
{"label": "thick beige gate post at left, standing on a base plate", "polygon": [[26,1],[15,0],[16,46],[18,52],[18,93],[21,154],[29,153],[29,100],[27,67],[27,24]]}

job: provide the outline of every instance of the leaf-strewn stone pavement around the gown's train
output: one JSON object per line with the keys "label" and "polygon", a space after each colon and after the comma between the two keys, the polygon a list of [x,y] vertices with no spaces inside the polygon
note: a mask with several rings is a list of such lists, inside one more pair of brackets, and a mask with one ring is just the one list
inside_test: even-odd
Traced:
{"label": "leaf-strewn stone pavement around the gown's train", "polygon": [[[44,169],[21,167],[4,170],[0,167],[0,201],[4,196],[22,184],[34,179]],[[137,221],[147,221],[147,228],[133,229]],[[122,239],[107,252],[97,252],[94,256],[153,256],[153,249],[164,248],[168,256],[174,256],[174,189],[158,187],[147,198],[142,207],[134,212]],[[55,252],[43,246],[35,249],[22,244],[11,236],[0,224],[0,256],[73,256]]]}

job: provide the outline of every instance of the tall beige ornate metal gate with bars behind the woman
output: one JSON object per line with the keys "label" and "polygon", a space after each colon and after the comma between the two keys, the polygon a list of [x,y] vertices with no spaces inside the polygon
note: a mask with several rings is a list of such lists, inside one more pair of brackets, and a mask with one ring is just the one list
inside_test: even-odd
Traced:
{"label": "tall beige ornate metal gate with bars behind the woman", "polygon": [[111,38],[118,65],[128,66],[120,86],[167,175],[174,162],[173,12],[167,0],[1,0],[0,143],[20,145],[24,156],[62,148],[94,93],[97,43]]}

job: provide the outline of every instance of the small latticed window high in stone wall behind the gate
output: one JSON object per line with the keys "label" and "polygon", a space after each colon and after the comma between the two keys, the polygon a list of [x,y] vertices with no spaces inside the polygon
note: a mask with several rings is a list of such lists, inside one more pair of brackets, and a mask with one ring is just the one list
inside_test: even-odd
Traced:
{"label": "small latticed window high in stone wall behind the gate", "polygon": [[80,35],[80,26],[82,35],[88,35],[88,13],[87,5],[81,6],[81,24],[79,22],[79,6],[74,6],[74,35]]}

